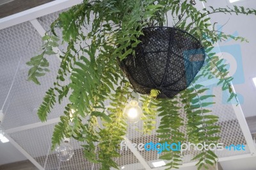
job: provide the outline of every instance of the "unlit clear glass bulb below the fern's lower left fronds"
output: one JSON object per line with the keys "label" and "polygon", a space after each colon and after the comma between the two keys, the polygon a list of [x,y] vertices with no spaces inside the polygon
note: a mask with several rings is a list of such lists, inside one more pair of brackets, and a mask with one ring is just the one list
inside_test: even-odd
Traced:
{"label": "unlit clear glass bulb below the fern's lower left fronds", "polygon": [[73,147],[69,143],[69,139],[65,138],[63,143],[56,148],[57,157],[61,161],[68,161],[74,155]]}

